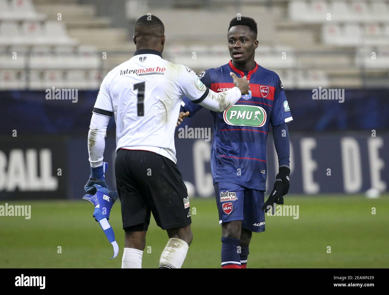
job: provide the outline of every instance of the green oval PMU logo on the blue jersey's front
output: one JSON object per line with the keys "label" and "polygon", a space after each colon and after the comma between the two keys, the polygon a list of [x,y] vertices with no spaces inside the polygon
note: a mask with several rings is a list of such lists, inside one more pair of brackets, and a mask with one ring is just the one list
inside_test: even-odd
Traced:
{"label": "green oval PMU logo on the blue jersey's front", "polygon": [[266,123],[266,111],[260,106],[234,104],[223,113],[224,121],[231,126],[262,127]]}

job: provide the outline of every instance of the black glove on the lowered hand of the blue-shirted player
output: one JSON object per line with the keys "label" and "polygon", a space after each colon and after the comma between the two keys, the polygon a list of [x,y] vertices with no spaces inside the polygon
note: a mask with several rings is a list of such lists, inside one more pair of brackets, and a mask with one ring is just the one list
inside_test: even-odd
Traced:
{"label": "black glove on the lowered hand of the blue-shirted player", "polygon": [[[278,174],[275,177],[275,182],[273,186],[273,190],[270,193],[269,198],[263,204],[262,210],[265,210],[265,213],[267,213],[270,209],[273,209],[273,214],[275,213],[275,206],[274,203],[282,205],[284,204],[284,195],[286,195],[289,191],[289,173],[290,173],[289,167],[282,166],[278,170]],[[271,208],[270,208],[271,207]]]}

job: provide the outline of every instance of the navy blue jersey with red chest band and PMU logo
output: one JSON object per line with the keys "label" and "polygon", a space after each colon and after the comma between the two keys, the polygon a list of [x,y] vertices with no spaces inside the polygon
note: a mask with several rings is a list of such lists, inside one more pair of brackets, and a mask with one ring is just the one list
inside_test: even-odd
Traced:
{"label": "navy blue jersey with red chest band and PMU logo", "polygon": [[[230,61],[200,74],[209,89],[221,92],[234,87],[230,72],[245,73]],[[292,119],[279,76],[256,66],[247,73],[250,91],[222,113],[211,111],[214,139],[211,148],[213,181],[233,182],[249,189],[266,190],[266,140],[269,123],[277,126]],[[181,111],[195,115],[202,106],[183,98]]]}

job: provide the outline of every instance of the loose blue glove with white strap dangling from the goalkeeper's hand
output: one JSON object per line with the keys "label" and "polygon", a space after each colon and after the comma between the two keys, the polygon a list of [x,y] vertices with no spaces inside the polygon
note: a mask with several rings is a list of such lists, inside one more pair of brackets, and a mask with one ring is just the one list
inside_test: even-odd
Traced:
{"label": "loose blue glove with white strap dangling from the goalkeeper's hand", "polygon": [[94,184],[93,189],[96,190],[95,194],[86,194],[82,197],[82,199],[91,202],[95,206],[93,217],[95,217],[95,220],[100,224],[105,236],[107,236],[108,241],[114,248],[114,255],[111,257],[112,259],[117,256],[117,253],[119,253],[119,246],[115,240],[114,230],[112,229],[108,220],[112,206],[114,205],[118,196],[117,191],[109,191],[105,187],[99,186],[98,184]]}

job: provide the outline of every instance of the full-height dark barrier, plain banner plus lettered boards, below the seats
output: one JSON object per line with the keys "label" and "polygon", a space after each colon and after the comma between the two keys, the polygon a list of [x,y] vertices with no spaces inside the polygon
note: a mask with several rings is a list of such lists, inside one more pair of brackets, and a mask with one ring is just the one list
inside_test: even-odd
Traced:
{"label": "full-height dark barrier, plain banner plus lettered boards, below the seats", "polygon": [[[82,197],[90,172],[87,136],[97,92],[79,91],[77,102],[63,97],[47,99],[45,91],[0,92],[1,200]],[[345,90],[342,103],[314,100],[312,90],[287,90],[286,95],[294,119],[288,124],[292,147],[290,193],[364,193],[371,187],[388,190],[387,90]],[[202,109],[179,128],[212,131],[212,116]],[[186,134],[181,138],[179,128],[175,134],[177,165],[189,194],[212,196],[212,136],[196,139]],[[115,188],[114,120],[107,130],[106,176]],[[270,137],[268,188],[277,166]]]}

